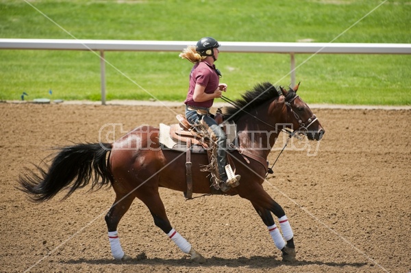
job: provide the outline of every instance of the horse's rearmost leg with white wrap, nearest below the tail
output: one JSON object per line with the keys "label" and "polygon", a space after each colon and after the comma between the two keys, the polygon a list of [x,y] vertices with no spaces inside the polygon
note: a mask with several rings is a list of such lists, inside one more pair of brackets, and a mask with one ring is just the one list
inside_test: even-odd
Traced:
{"label": "horse's rearmost leg with white wrap, nearest below the tail", "polygon": [[117,232],[117,226],[121,218],[132,205],[134,196],[124,196],[116,194],[116,200],[114,204],[105,215],[105,223],[108,228],[108,239],[110,241],[110,246],[112,250],[112,255],[116,260],[125,261],[131,259],[128,255],[125,255],[123,248],[121,248],[119,233]]}

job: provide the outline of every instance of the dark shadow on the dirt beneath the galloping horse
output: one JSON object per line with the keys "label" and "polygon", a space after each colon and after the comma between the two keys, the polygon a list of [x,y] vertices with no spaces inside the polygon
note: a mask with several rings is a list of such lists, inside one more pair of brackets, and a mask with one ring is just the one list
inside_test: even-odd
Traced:
{"label": "dark shadow on the dirt beneath the galloping horse", "polygon": [[325,262],[325,261],[295,261],[295,262],[284,262],[278,259],[278,257],[263,257],[263,256],[252,256],[252,257],[238,257],[236,259],[225,259],[220,257],[208,258],[206,263],[199,264],[191,261],[188,257],[182,259],[160,259],[153,258],[147,259],[145,254],[138,255],[134,259],[129,261],[114,261],[112,259],[76,259],[69,260],[66,263],[77,264],[77,263],[90,263],[95,265],[105,265],[105,264],[138,264],[138,265],[171,265],[171,266],[187,266],[187,267],[219,267],[227,266],[231,268],[237,268],[239,266],[247,265],[248,268],[277,268],[281,265],[290,266],[301,266],[301,265],[327,265],[331,267],[342,268],[344,266],[353,266],[360,268],[368,263],[335,263],[335,262]]}

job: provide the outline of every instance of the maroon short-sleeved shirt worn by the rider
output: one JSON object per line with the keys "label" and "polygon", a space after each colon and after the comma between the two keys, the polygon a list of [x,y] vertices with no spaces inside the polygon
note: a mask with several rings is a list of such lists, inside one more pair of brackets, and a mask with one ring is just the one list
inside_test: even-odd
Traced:
{"label": "maroon short-sleeved shirt worn by the rider", "polygon": [[204,92],[207,94],[212,94],[214,90],[219,87],[220,78],[215,71],[214,65],[210,65],[207,62],[199,62],[195,64],[190,73],[190,86],[188,87],[188,94],[186,97],[186,101],[184,103],[186,105],[191,105],[195,107],[206,107],[210,108],[214,99],[210,99],[208,101],[196,102],[192,99],[192,94],[194,94],[194,88],[196,84],[200,86],[205,86],[206,89]]}

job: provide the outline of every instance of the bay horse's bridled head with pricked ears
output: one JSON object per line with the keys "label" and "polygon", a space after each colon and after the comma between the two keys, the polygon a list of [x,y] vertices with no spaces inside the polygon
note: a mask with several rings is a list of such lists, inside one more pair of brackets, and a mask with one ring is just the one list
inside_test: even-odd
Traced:
{"label": "bay horse's bridled head with pricked ears", "polygon": [[297,95],[298,87],[299,84],[286,91],[280,86],[285,98],[288,121],[292,122],[292,129],[295,133],[303,133],[309,140],[321,140],[325,130],[316,116],[312,114],[310,107]]}

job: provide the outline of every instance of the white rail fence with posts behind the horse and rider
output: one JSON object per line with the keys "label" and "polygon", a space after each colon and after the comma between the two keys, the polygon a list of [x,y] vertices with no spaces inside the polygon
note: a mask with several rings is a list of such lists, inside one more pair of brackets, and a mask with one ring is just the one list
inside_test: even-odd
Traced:
{"label": "white rail fence with posts behind the horse and rider", "polygon": [[[366,44],[323,42],[220,42],[221,51],[233,53],[290,54],[291,83],[295,83],[295,54],[411,54],[411,44]],[[101,61],[101,103],[105,104],[104,51],[182,51],[195,41],[149,40],[55,40],[0,39],[0,49],[99,51]]]}

